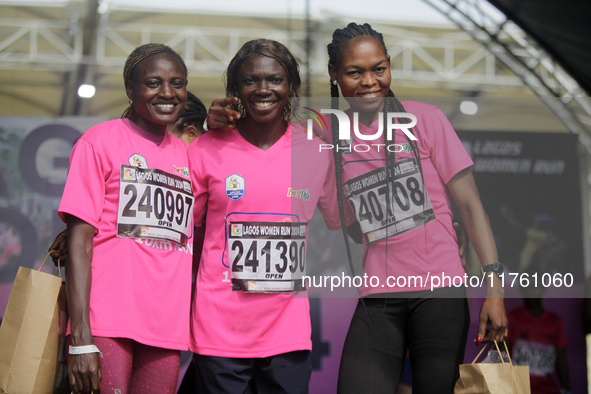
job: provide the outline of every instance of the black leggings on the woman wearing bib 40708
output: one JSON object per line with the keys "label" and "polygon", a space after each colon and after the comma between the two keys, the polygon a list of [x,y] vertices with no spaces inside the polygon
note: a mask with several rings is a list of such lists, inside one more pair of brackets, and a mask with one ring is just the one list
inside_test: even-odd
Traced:
{"label": "black leggings on the woman wearing bib 40708", "polygon": [[379,296],[388,298],[366,297],[357,304],[341,357],[338,393],[394,393],[408,349],[413,394],[452,394],[470,325],[466,290]]}

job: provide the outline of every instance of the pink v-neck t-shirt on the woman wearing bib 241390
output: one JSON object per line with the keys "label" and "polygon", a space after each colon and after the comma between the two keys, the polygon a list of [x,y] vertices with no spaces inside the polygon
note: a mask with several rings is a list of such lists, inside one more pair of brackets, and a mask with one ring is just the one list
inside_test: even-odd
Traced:
{"label": "pink v-neck t-shirt on the woman wearing bib 241390", "polygon": [[[252,264],[262,272],[271,252],[301,256],[301,240],[293,251],[281,248],[279,242],[286,242],[289,248],[294,242],[281,239],[285,227],[279,226],[294,225],[291,230],[299,231],[300,224],[311,220],[316,206],[330,228],[338,226],[334,187],[328,186],[334,183],[331,157],[319,152],[318,139],[307,140],[301,130],[294,129],[289,127],[267,151],[247,142],[236,130],[210,131],[189,147],[195,225],[200,226],[203,220],[206,225],[191,309],[193,352],[249,358],[312,347],[305,293],[293,296],[232,290],[236,266],[243,271],[238,274],[252,271]],[[258,249],[252,246],[252,239],[257,240]],[[264,244],[269,246],[261,246]],[[269,266],[280,261],[276,255]],[[286,273],[289,275],[289,269]],[[260,289],[274,283],[253,280],[246,285],[247,289],[251,285]]]}

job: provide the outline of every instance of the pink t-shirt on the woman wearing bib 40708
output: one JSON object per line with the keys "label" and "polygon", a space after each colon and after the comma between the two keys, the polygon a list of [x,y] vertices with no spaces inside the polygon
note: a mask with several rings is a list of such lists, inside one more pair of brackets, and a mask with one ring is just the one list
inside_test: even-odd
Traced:
{"label": "pink t-shirt on the woman wearing bib 40708", "polygon": [[[448,287],[452,283],[449,280],[432,282],[432,277],[464,275],[445,185],[473,162],[439,109],[413,101],[403,105],[407,113],[417,117],[413,134],[417,138],[424,179],[421,179],[418,163],[413,161],[407,137],[402,130],[396,129],[394,143],[402,146],[397,147],[401,151],[396,153],[396,194],[388,196],[391,202],[389,214],[383,170],[383,135],[375,141],[361,140],[351,130],[351,153],[343,155],[343,182],[348,183],[345,193],[350,194],[349,199],[353,200],[355,214],[364,230],[364,271],[368,277],[380,279],[379,285],[362,288],[363,296],[428,290],[432,284],[435,288]],[[325,119],[329,127],[323,130],[323,134],[332,141],[331,118],[326,116]],[[350,119],[353,128],[352,116]],[[370,127],[360,123],[359,132],[373,135],[377,127],[378,120]],[[394,221],[396,226],[390,227],[389,231],[393,233],[387,237],[387,242],[384,240],[386,220]],[[456,280],[455,284],[459,283],[463,281]]]}

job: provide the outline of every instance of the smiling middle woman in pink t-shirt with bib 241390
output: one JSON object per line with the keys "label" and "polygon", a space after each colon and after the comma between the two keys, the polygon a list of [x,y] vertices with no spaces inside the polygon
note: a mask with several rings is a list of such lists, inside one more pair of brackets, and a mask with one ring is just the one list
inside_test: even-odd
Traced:
{"label": "smiling middle woman in pink t-shirt with bib 241390", "polygon": [[206,225],[189,345],[198,391],[303,394],[311,324],[308,299],[297,292],[305,291],[315,208],[338,226],[332,159],[319,152],[319,139],[290,123],[301,82],[284,45],[247,42],[226,77],[231,98],[224,104],[240,112],[233,112],[236,127],[212,130],[189,147],[194,222]]}

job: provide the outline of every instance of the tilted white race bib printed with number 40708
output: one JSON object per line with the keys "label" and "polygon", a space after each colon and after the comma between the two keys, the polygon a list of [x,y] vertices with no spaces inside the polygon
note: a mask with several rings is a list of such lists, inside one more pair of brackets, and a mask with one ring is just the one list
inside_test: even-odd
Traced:
{"label": "tilted white race bib printed with number 40708", "polygon": [[395,180],[394,174],[386,176],[384,166],[344,185],[367,244],[424,226],[435,219],[416,159],[397,161],[394,171]]}

